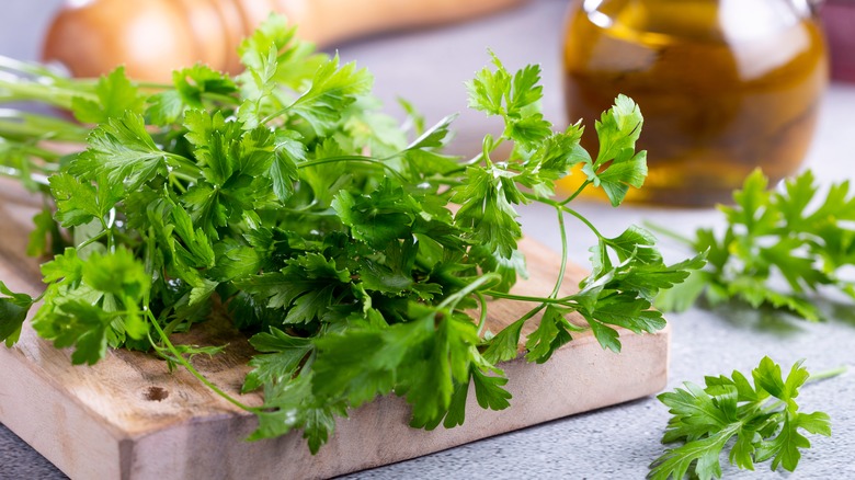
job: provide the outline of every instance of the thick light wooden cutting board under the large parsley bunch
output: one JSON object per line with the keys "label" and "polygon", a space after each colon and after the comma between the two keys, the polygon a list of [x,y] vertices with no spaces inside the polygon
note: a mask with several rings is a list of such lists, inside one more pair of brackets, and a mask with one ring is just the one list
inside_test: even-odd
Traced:
{"label": "thick light wooden cutting board under the large parsley bunch", "polygon": [[[0,182],[0,279],[13,290],[41,290],[37,262],[22,256],[37,199]],[[524,242],[531,278],[515,292],[549,292],[559,267],[555,253]],[[584,272],[570,266],[566,289]],[[495,301],[489,328],[498,332],[529,306]],[[523,333],[535,325],[529,322]],[[223,318],[206,338],[181,343],[224,344],[197,368],[237,395],[252,348]],[[212,393],[183,370],[138,352],[110,352],[95,366],[71,366],[25,328],[12,348],[0,346],[0,422],[72,479],[297,479],[327,478],[451,448],[654,393],[665,386],[670,329],[657,334],[620,332],[620,354],[603,351],[588,333],[545,365],[524,358],[502,367],[513,393],[511,408],[486,411],[470,392],[463,426],[432,432],[408,426],[409,408],[397,397],[379,398],[338,421],[334,436],[311,456],[299,432],[248,443],[255,420]],[[259,404],[258,395],[243,401]],[[568,425],[572,427],[572,425]]]}

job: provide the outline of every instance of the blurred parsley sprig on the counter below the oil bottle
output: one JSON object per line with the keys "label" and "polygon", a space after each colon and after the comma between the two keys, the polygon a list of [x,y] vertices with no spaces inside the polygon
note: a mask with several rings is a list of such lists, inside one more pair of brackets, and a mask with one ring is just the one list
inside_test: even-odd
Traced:
{"label": "blurred parsley sprig on the counter below the oil bottle", "polygon": [[[855,195],[850,182],[833,184],[823,198],[808,170],[788,179],[782,190],[767,188],[760,170],[745,179],[733,193],[734,205],[719,207],[728,224],[722,235],[707,228],[698,229],[694,239],[670,233],[708,252],[708,262],[707,268],[663,293],[658,307],[683,310],[703,295],[711,305],[737,298],[818,321],[822,312],[809,294],[833,287],[855,299],[855,281],[845,276],[855,265]],[[775,287],[776,279],[786,281],[783,288]]]}

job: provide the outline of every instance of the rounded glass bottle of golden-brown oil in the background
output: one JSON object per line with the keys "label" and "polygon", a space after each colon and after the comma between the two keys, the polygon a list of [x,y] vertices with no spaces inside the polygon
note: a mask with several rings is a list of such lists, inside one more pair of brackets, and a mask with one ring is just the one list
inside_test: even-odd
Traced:
{"label": "rounded glass bottle of golden-brown oil in the background", "polygon": [[672,205],[728,202],[757,167],[794,173],[828,81],[809,0],[574,1],[563,60],[571,122],[593,125],[618,93],[638,103],[650,171],[627,198]]}

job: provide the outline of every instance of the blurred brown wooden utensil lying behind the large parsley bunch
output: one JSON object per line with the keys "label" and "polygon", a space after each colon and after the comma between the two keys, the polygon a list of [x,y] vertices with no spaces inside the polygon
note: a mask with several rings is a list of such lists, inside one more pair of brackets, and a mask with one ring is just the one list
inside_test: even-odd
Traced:
{"label": "blurred brown wooden utensil lying behind the large parsley bunch", "polygon": [[75,77],[118,65],[166,81],[197,61],[239,71],[237,46],[270,12],[320,46],[372,33],[460,21],[525,0],[89,0],[69,1],[48,31],[43,59]]}

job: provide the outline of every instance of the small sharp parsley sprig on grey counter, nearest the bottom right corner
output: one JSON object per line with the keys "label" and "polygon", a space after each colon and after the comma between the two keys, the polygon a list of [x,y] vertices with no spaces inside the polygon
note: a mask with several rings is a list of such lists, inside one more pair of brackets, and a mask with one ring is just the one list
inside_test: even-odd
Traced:
{"label": "small sharp parsley sprig on grey counter, nearest the bottom right corner", "polygon": [[751,373],[753,386],[734,370],[730,377],[706,377],[705,388],[685,382],[685,388],[660,395],[673,415],[662,443],[683,444],[653,461],[648,478],[721,478],[719,457],[728,447],[730,464],[740,469],[754,470],[755,464],[772,460],[772,470],[794,471],[800,450],[810,448],[800,431],[831,436],[828,414],[800,412],[796,403],[799,388],[810,377],[801,364],[797,362],[784,378],[780,366],[764,357]]}

